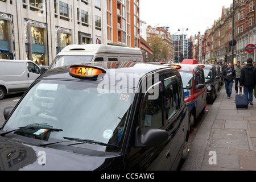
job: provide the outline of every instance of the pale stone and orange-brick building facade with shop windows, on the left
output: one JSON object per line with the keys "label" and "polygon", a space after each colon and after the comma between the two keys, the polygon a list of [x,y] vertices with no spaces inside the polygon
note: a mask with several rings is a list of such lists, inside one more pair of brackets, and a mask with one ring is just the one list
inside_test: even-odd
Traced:
{"label": "pale stone and orange-brick building facade with shop windows, on the left", "polygon": [[139,0],[0,0],[0,48],[49,65],[69,44],[139,47]]}

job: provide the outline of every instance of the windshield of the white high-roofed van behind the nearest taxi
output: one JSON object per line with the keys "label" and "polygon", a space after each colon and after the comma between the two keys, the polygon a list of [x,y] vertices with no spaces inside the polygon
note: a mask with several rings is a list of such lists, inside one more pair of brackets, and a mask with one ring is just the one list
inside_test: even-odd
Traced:
{"label": "windshield of the white high-roofed van behind the nearest taxi", "polygon": [[49,69],[62,67],[64,65],[77,64],[77,63],[89,63],[93,59],[93,56],[56,56],[49,66]]}

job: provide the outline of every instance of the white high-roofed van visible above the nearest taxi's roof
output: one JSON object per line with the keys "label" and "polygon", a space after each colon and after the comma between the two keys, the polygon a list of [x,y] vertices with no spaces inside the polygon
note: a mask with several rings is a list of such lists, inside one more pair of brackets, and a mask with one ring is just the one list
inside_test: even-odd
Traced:
{"label": "white high-roofed van visible above the nearest taxi's roof", "polygon": [[65,47],[49,65],[49,69],[63,65],[98,61],[143,62],[141,49],[104,44],[77,44]]}

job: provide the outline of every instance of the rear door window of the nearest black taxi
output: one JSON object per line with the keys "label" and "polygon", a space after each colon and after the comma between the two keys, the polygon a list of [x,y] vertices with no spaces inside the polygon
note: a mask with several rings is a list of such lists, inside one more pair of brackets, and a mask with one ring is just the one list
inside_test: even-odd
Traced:
{"label": "rear door window of the nearest black taxi", "polygon": [[177,77],[171,77],[164,80],[166,90],[166,112],[170,120],[180,109],[179,82]]}

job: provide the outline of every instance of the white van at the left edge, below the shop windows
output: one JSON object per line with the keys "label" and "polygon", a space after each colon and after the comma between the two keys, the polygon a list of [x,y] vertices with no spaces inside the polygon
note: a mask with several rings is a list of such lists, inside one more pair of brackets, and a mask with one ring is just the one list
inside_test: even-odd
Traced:
{"label": "white van at the left edge, below the shop windows", "polygon": [[40,68],[30,60],[0,60],[0,100],[6,94],[25,92],[40,76]]}

